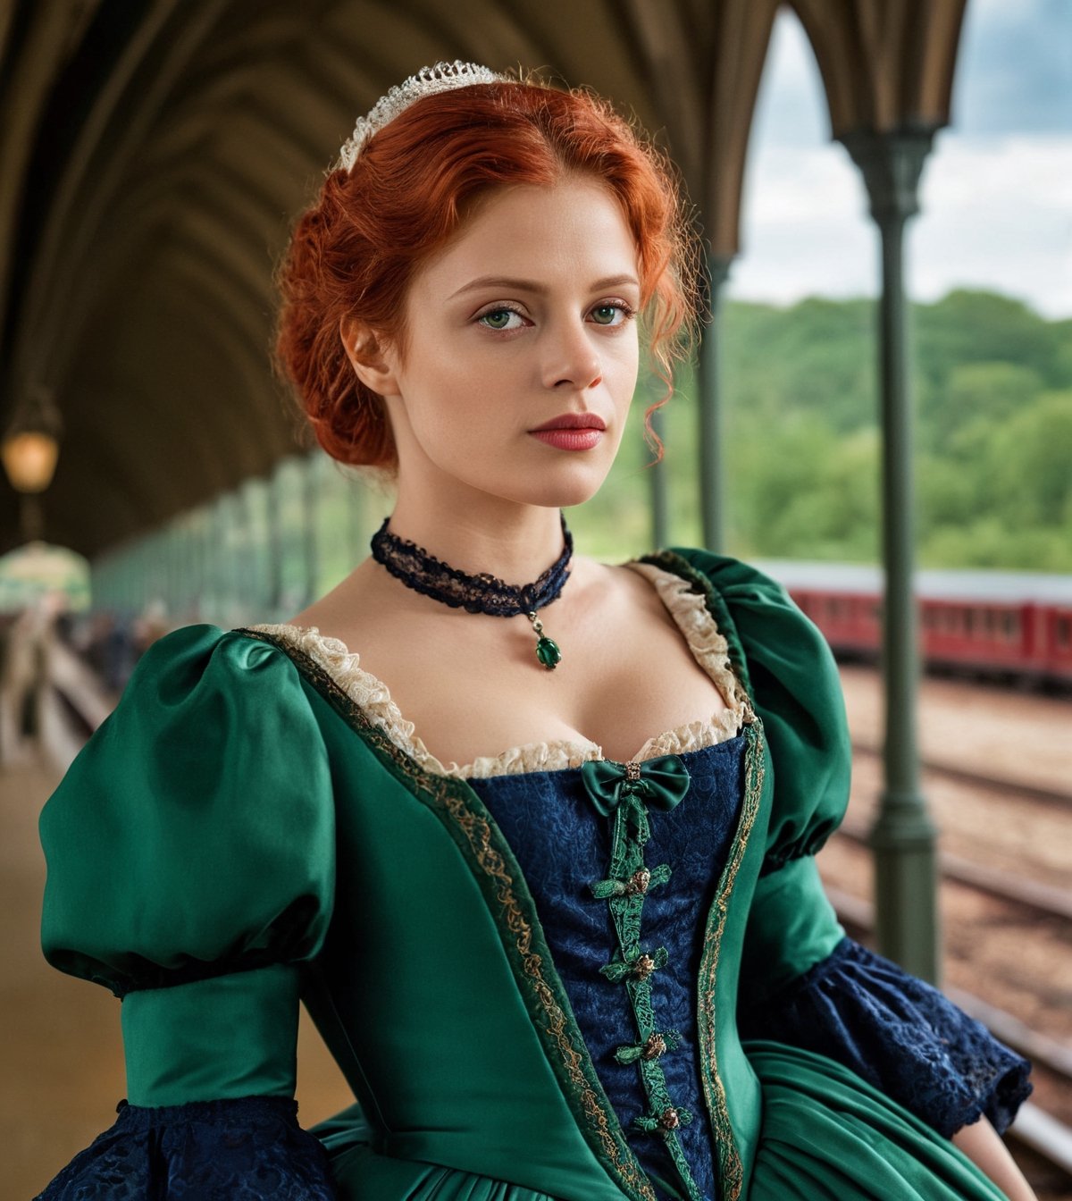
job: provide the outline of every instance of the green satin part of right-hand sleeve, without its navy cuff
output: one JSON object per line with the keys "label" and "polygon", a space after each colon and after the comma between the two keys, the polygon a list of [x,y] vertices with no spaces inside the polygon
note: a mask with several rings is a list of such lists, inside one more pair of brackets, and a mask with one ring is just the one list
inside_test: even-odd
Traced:
{"label": "green satin part of right-hand sleeve, without its navy cuff", "polygon": [[785,588],[736,558],[688,557],[724,607],[723,632],[762,719],[773,777],[742,961],[742,1003],[749,1004],[802,976],[845,937],[814,856],[849,803],[849,724],[833,655]]}

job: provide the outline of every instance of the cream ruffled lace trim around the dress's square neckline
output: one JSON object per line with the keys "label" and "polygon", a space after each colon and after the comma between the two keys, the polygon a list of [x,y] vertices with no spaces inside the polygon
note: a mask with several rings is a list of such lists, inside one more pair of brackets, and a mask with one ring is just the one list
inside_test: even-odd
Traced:
{"label": "cream ruffled lace trim around the dress's square neckline", "polygon": [[[634,759],[654,759],[664,754],[684,754],[733,737],[748,716],[748,700],[737,685],[727,657],[725,638],[703,604],[703,597],[690,591],[687,580],[653,563],[625,564],[647,576],[688,643],[696,662],[711,676],[726,703],[726,707],[707,721],[697,719],[664,730],[649,737]],[[591,739],[556,739],[551,742],[527,742],[510,747],[496,755],[481,755],[473,763],[441,763],[424,745],[413,722],[408,722],[391,699],[390,689],[371,671],[360,665],[360,656],[339,638],[329,638],[316,626],[262,623],[250,626],[280,638],[307,655],[328,673],[359,705],[367,717],[425,771],[462,779],[480,779],[528,771],[561,771],[579,767],[589,759],[603,759],[603,749]]]}

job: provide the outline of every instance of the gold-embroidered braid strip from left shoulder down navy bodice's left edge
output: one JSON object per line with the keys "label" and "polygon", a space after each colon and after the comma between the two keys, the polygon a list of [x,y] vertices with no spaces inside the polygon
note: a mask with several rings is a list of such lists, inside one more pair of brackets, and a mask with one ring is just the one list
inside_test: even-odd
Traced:
{"label": "gold-embroidered braid strip from left shoulder down navy bodice's left edge", "polygon": [[514,880],[505,868],[503,856],[492,846],[491,824],[479,813],[474,813],[466,802],[466,797],[461,795],[461,789],[467,789],[468,785],[465,781],[439,776],[421,767],[369,718],[361,706],[323,664],[317,662],[303,647],[294,645],[289,640],[287,627],[279,631],[241,627],[235,633],[270,643],[281,650],[311,680],[319,692],[328,695],[334,707],[342,712],[349,723],[360,731],[360,736],[375,746],[382,754],[387,755],[399,773],[409,781],[411,784],[419,788],[423,793],[431,795],[436,803],[451,817],[454,823],[465,833],[477,862],[489,877],[497,882],[498,886],[495,890],[496,900],[502,907],[507,928],[515,938],[515,946],[525,974],[528,976],[533,992],[547,1016],[549,1024],[545,1027],[545,1032],[553,1038],[558,1047],[569,1081],[581,1101],[589,1127],[594,1130],[603,1146],[604,1154],[613,1165],[621,1182],[633,1189],[635,1197],[642,1199],[642,1201],[657,1201],[654,1189],[647,1176],[641,1171],[640,1164],[629,1149],[624,1135],[613,1130],[611,1121],[607,1117],[607,1110],[600,1103],[595,1089],[588,1080],[585,1071],[587,1056],[580,1052],[574,1045],[565,1011],[558,1003],[555,990],[547,984],[544,976],[543,956],[532,949],[532,927],[514,895]]}

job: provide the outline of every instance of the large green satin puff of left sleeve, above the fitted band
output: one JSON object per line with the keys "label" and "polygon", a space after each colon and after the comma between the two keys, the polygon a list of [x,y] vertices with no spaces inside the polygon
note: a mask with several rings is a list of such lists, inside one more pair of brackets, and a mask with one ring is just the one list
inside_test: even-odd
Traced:
{"label": "large green satin puff of left sleeve, above the fitted band", "polygon": [[42,811],[46,958],[119,996],[307,958],[331,916],[334,841],[294,665],[215,626],[175,631]]}

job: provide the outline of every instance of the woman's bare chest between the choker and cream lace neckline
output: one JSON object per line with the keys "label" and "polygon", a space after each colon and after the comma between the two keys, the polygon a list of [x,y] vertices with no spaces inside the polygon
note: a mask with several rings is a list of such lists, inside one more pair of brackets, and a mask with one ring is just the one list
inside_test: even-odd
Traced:
{"label": "woman's bare chest between the choker and cream lace neckline", "polygon": [[605,757],[627,760],[654,735],[725,709],[685,633],[653,599],[655,607],[601,611],[556,614],[549,607],[545,633],[562,651],[550,671],[537,661],[525,617],[459,611],[429,614],[405,628],[366,627],[361,665],[388,685],[442,763],[558,741],[592,741]]}

